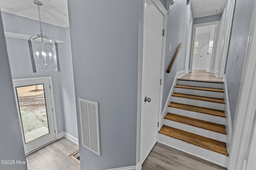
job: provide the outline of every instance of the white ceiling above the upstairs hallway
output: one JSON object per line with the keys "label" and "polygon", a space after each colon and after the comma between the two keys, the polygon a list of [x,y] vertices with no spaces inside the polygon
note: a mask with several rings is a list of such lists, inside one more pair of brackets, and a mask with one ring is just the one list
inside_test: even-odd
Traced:
{"label": "white ceiling above the upstairs hallway", "polygon": [[191,0],[194,18],[221,14],[226,0]]}

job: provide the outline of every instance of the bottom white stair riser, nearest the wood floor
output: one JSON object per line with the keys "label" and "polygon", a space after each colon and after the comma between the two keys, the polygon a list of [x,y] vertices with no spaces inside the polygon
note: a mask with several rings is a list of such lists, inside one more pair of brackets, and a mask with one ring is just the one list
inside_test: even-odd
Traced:
{"label": "bottom white stair riser, nearest the wood floor", "polygon": [[159,143],[181,150],[188,154],[197,156],[198,158],[202,158],[214,164],[218,164],[220,166],[226,167],[226,161],[228,160],[228,157],[223,154],[219,154],[217,152],[213,152],[211,150],[204,149],[196,145],[192,145],[190,143],[186,143],[184,141],[180,141],[178,139],[174,139],[172,137],[168,137],[160,133],[159,133]]}

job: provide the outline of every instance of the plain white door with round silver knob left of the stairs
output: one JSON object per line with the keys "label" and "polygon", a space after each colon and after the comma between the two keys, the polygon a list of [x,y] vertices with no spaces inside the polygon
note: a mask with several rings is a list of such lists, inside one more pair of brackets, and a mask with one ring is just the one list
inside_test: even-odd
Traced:
{"label": "plain white door with round silver knob left of the stairs", "polygon": [[[160,109],[160,78],[164,44],[163,29],[167,16],[159,9],[158,0],[144,1],[142,113],[140,131],[140,163],[157,141]],[[162,5],[162,4],[161,4]],[[162,6],[163,7],[163,6]],[[165,10],[165,9],[164,9]],[[145,98],[148,98],[146,102]],[[151,99],[151,100],[150,100]]]}

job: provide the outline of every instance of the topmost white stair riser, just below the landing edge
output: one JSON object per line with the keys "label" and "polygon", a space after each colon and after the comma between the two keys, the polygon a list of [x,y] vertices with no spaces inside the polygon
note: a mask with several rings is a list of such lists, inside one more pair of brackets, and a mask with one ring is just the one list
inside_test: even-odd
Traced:
{"label": "topmost white stair riser, just below the landing edge", "polygon": [[223,89],[223,83],[177,80],[177,85]]}

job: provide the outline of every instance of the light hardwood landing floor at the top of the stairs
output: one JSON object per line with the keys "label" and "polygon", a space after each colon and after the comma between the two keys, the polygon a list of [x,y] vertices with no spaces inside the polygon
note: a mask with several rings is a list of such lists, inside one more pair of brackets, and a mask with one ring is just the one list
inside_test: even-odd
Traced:
{"label": "light hardwood landing floor at the top of the stairs", "polygon": [[217,78],[215,74],[206,72],[206,70],[192,70],[191,73],[186,73],[179,79],[222,82],[222,78]]}

